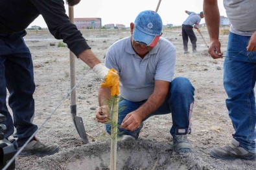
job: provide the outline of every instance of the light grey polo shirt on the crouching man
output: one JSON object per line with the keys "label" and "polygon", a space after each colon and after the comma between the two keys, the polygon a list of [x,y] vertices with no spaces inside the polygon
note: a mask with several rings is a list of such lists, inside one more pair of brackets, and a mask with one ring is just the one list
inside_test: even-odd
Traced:
{"label": "light grey polo shirt on the crouching man", "polygon": [[106,67],[119,73],[122,98],[130,101],[148,99],[155,80],[172,81],[175,63],[176,48],[163,37],[143,59],[132,48],[131,37],[126,37],[111,45],[105,60]]}

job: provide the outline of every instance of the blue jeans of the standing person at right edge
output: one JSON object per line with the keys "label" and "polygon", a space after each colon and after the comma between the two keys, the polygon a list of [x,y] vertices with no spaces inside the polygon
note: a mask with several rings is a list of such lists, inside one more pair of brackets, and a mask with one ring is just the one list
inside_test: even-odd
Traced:
{"label": "blue jeans of the standing person at right edge", "polygon": [[244,149],[255,153],[256,52],[246,50],[249,41],[248,36],[229,32],[227,57],[224,60],[224,88],[229,118],[235,129],[233,138]]}

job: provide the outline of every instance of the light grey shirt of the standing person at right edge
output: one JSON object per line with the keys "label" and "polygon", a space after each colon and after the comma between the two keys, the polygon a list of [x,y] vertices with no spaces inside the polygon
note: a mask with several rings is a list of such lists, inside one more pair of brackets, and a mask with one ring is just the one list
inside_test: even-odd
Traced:
{"label": "light grey shirt of the standing person at right edge", "polygon": [[230,31],[240,36],[251,36],[256,31],[255,0],[224,0]]}

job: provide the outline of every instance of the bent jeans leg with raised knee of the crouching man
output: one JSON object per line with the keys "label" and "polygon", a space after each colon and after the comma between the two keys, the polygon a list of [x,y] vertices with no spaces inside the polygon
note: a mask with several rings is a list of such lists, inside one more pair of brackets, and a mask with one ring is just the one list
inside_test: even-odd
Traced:
{"label": "bent jeans leg with raised knee of the crouching man", "polygon": [[187,78],[178,77],[172,80],[170,83],[169,96],[152,116],[171,112],[172,127],[170,134],[175,136],[177,129],[187,129],[187,133],[191,133],[193,104],[194,87]]}

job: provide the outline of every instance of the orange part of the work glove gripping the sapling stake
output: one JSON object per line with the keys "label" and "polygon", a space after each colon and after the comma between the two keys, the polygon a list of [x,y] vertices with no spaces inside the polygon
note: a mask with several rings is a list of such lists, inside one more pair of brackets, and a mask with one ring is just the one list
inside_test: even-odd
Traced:
{"label": "orange part of the work glove gripping the sapling stake", "polygon": [[108,71],[105,81],[101,84],[101,87],[110,87],[111,96],[117,96],[119,94],[119,75],[117,74],[117,70],[112,68]]}

